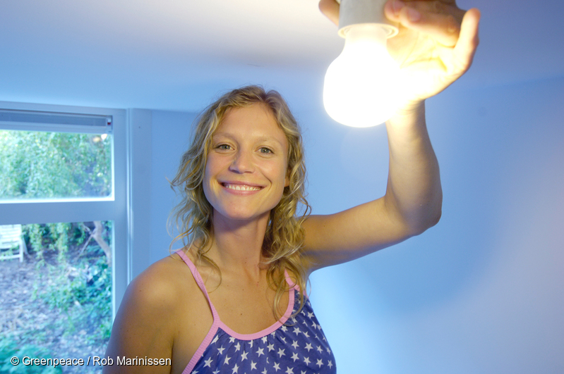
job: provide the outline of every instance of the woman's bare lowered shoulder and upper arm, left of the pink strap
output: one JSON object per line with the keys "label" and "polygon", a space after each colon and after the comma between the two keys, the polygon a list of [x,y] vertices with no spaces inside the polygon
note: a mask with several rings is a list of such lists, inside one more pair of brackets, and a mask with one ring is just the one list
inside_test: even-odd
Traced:
{"label": "woman's bare lowered shoulder and upper arm, left of the pink strap", "polygon": [[[202,313],[205,307],[205,300],[200,301],[196,292],[198,286],[190,269],[177,256],[153,263],[128,285],[114,320],[107,354],[172,358],[172,371],[181,372],[188,361],[178,354],[175,358],[173,351],[196,351],[203,339],[200,335],[205,336],[205,332],[193,327],[193,321],[201,320],[196,313]],[[146,370],[149,368],[154,369]],[[136,373],[145,373],[137,369]],[[104,371],[114,372],[129,373],[124,368]]]}

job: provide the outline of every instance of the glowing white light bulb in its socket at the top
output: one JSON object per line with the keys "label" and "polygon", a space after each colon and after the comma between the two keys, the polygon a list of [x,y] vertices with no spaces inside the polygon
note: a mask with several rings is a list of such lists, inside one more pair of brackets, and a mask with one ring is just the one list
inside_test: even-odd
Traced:
{"label": "glowing white light bulb in its socket at the top", "polygon": [[338,123],[369,127],[400,105],[400,67],[386,49],[397,34],[384,15],[385,0],[337,0],[344,49],[325,74],[323,105]]}

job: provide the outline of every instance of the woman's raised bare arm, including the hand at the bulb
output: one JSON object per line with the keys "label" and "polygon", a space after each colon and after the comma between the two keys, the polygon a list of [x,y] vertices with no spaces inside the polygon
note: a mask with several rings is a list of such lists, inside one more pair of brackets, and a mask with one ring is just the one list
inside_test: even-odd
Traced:
{"label": "woman's raised bare arm, including the hand at the bulb", "polygon": [[[338,22],[335,0],[321,0],[319,7]],[[455,82],[472,64],[480,13],[464,12],[451,0],[390,0],[384,10],[400,25],[388,49],[409,82],[404,106],[386,123],[390,149],[386,193],[347,211],[306,220],[304,257],[310,271],[402,242],[440,219],[443,194],[424,101]]]}

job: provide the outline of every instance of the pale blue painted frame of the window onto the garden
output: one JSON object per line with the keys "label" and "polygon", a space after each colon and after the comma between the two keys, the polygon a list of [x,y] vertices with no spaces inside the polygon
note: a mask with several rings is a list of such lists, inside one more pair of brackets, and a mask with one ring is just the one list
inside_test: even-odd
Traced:
{"label": "pale blue painted frame of the window onto the garden", "polygon": [[[52,113],[84,114],[112,117],[112,195],[103,198],[74,199],[22,199],[0,201],[0,225],[90,222],[112,220],[112,316],[124,297],[131,280],[128,263],[131,258],[129,182],[131,180],[127,111],[115,108],[92,108],[85,106],[62,106],[51,104],[28,104],[0,101],[0,108],[20,111],[43,111]],[[11,123],[0,130],[15,130]],[[43,125],[45,130],[60,131],[57,125]],[[21,130],[28,130],[22,125]],[[116,248],[120,249],[116,251]]]}

